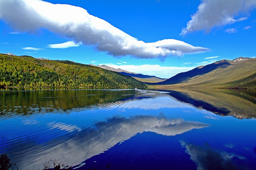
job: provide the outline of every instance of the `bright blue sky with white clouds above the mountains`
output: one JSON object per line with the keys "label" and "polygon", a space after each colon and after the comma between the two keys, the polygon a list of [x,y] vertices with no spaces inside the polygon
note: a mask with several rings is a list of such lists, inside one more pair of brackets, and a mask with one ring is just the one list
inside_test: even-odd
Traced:
{"label": "bright blue sky with white clouds above the mountains", "polygon": [[3,0],[0,53],[170,78],[255,57],[255,8],[251,0]]}

